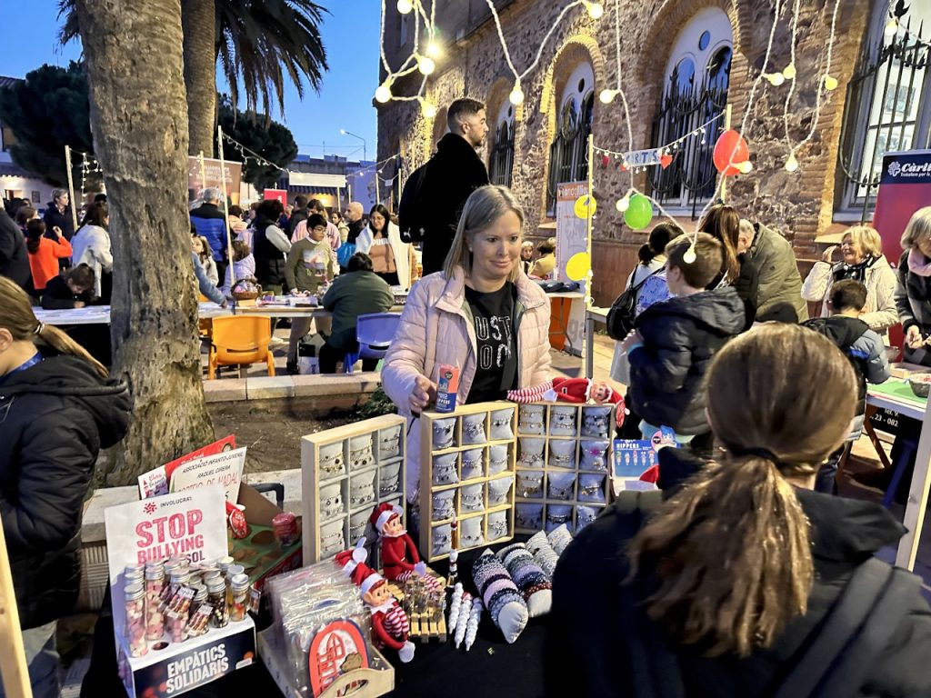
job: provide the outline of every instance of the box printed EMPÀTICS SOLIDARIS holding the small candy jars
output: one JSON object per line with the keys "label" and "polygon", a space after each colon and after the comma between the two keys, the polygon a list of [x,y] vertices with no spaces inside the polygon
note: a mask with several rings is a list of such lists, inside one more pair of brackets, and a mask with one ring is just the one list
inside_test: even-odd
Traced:
{"label": "box printed EMP\u00c0TICS SOLIDARIS holding the small candy jars", "polygon": [[[121,633],[119,647],[126,647]],[[149,643],[138,658],[119,650],[119,671],[129,698],[168,698],[196,689],[255,661],[255,624],[246,620],[210,628],[199,638],[170,644]]]}

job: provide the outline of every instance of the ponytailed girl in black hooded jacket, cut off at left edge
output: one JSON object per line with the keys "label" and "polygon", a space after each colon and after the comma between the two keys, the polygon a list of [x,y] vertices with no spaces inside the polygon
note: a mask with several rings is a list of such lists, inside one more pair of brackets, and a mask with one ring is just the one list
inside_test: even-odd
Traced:
{"label": "ponytailed girl in black hooded jacket, cut off at left edge", "polygon": [[0,278],[0,516],[37,697],[59,695],[55,625],[77,600],[83,503],[130,409],[127,383]]}

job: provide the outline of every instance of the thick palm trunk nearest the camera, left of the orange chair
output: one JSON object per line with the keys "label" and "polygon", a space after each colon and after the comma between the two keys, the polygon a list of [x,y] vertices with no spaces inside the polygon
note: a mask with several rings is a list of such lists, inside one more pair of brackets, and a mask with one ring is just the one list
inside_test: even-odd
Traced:
{"label": "thick palm trunk nearest the camera, left of the orange chair", "polygon": [[187,214],[179,0],[77,0],[90,128],[110,201],[115,374],[135,405],[108,485],[213,436],[201,385]]}

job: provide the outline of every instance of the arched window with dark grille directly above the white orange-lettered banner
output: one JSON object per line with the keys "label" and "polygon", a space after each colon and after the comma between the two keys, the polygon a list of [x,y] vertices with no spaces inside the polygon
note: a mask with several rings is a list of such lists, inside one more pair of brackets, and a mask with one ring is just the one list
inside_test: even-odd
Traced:
{"label": "arched window with dark grille directly above the white orange-lettered banner", "polygon": [[588,177],[587,140],[595,109],[595,73],[591,63],[582,63],[562,88],[556,102],[556,138],[549,146],[549,176],[546,181],[546,215],[556,215],[556,188],[566,181]]}

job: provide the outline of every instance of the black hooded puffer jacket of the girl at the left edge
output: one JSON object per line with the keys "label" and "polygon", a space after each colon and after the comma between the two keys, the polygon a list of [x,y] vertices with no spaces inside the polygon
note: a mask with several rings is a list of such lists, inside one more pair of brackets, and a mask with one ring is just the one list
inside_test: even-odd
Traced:
{"label": "black hooded puffer jacket of the girl at the left edge", "polygon": [[23,629],[74,608],[81,516],[101,449],[126,432],[125,381],[49,356],[0,382],[0,514]]}

